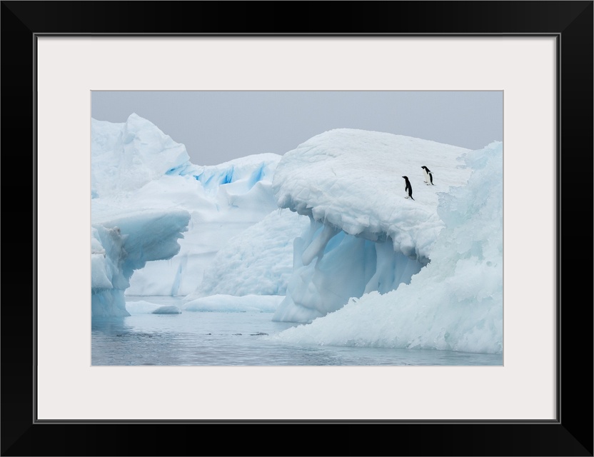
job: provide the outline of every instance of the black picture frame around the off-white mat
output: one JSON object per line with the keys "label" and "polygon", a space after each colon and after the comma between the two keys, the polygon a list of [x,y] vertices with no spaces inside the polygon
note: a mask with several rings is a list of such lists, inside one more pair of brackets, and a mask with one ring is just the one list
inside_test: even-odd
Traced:
{"label": "black picture frame around the off-white mat", "polygon": [[[0,19],[2,456],[593,455],[592,288],[572,273],[592,264],[584,241],[593,229],[593,1],[1,1]],[[34,71],[36,37],[44,34],[555,36],[556,420],[36,421],[35,285],[43,272],[36,271]]]}

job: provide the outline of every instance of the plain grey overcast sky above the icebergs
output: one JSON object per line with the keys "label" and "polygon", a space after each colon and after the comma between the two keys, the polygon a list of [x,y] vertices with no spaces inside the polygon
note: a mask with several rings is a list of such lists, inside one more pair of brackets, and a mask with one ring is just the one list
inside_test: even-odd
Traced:
{"label": "plain grey overcast sky above the icebergs", "polygon": [[93,91],[91,117],[136,113],[196,165],[284,154],[331,129],[363,129],[480,149],[503,141],[503,91]]}

